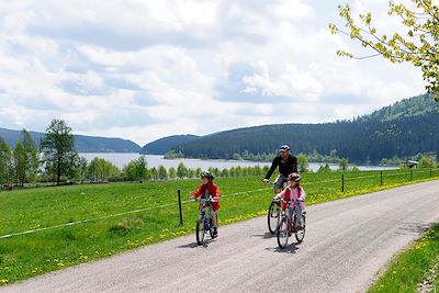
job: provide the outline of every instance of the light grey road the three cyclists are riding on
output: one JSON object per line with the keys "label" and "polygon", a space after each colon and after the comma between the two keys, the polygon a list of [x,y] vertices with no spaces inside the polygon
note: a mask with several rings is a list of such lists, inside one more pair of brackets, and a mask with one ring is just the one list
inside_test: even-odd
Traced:
{"label": "light grey road the three cyclists are riding on", "polygon": [[390,257],[439,222],[431,181],[309,206],[301,245],[281,250],[266,217],[31,279],[0,292],[363,292]]}

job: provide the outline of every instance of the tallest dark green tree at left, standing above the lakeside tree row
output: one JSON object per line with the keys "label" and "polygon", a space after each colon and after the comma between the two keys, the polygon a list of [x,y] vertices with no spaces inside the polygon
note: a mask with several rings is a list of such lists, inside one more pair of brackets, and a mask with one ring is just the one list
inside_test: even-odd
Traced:
{"label": "tallest dark green tree at left, standing above the lakeside tree row", "polygon": [[63,120],[50,122],[46,129],[46,136],[41,142],[41,151],[46,172],[53,174],[58,184],[61,176],[72,176],[78,151],[75,149],[71,128]]}

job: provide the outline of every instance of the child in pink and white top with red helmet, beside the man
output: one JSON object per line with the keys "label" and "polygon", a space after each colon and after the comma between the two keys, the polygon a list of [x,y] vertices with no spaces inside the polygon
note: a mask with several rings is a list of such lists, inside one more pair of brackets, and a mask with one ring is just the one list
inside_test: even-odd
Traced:
{"label": "child in pink and white top with red helmet, beside the man", "polygon": [[[295,210],[296,222],[294,223],[299,228],[303,228],[302,213],[305,211],[305,190],[301,185],[301,176],[297,172],[289,174],[289,185],[283,191],[278,193],[275,198],[290,202],[291,209]],[[289,215],[291,216],[291,215]]]}

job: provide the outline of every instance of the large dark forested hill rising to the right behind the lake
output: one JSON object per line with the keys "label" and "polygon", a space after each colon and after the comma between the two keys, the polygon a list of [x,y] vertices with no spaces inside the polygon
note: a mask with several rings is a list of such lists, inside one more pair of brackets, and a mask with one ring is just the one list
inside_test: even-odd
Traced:
{"label": "large dark forested hill rising to the right behind the lake", "polygon": [[294,154],[313,150],[329,155],[337,150],[351,162],[376,164],[382,158],[399,158],[439,150],[439,104],[420,95],[385,106],[370,115],[322,124],[277,124],[233,129],[203,136],[179,145],[173,151],[184,157],[246,157],[270,154],[289,144]]}

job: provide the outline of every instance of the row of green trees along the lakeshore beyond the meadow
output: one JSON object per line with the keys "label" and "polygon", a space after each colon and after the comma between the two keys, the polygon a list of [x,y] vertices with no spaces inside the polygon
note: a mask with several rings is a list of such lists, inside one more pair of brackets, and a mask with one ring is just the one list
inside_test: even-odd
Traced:
{"label": "row of green trees along the lakeshore beyond the meadow", "polygon": [[[248,151],[243,155],[247,159],[251,158]],[[274,155],[274,153],[270,154],[269,159],[271,160]],[[328,156],[322,156],[314,149],[311,155],[297,155],[300,172],[309,171],[309,158],[320,162],[326,161],[326,165],[322,165],[317,172],[331,171],[328,162],[337,162],[339,170],[342,171],[358,170],[354,166],[349,166],[347,158],[338,158],[336,149],[331,149]],[[436,158],[418,154],[415,159],[419,161],[419,167],[437,167]],[[395,161],[396,158],[392,160]],[[403,162],[398,161],[398,164]],[[268,166],[238,166],[222,170],[211,167],[209,170],[218,177],[243,177],[263,176],[268,168]],[[0,137],[0,184],[2,187],[23,187],[25,183],[33,182],[60,184],[196,178],[201,171],[200,168],[187,168],[183,162],[180,162],[177,168],[167,169],[164,166],[148,168],[144,156],[130,161],[122,170],[102,158],[94,158],[88,162],[86,158],[78,155],[72,129],[61,120],[50,122],[38,146],[25,129],[21,132],[20,139],[13,149]]]}

